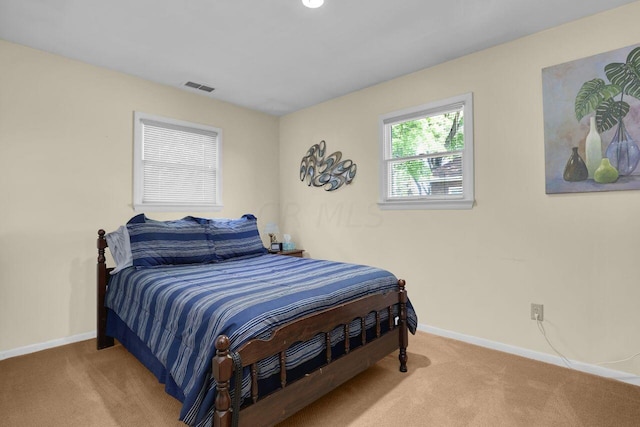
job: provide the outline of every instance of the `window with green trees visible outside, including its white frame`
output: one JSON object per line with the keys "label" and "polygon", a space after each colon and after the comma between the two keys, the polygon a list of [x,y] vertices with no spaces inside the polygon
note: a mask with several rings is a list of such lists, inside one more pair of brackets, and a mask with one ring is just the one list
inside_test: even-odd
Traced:
{"label": "window with green trees visible outside, including its white frame", "polygon": [[473,206],[472,94],[380,118],[382,209]]}

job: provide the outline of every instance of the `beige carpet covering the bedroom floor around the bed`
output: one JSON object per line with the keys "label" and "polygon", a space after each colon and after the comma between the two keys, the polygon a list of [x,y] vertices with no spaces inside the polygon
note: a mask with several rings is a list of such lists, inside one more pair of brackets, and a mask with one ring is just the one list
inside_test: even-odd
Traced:
{"label": "beige carpet covering the bedroom floor around the bed", "polygon": [[[640,387],[418,333],[280,427],[640,426]],[[121,346],[0,361],[1,426],[180,426],[180,403]]]}

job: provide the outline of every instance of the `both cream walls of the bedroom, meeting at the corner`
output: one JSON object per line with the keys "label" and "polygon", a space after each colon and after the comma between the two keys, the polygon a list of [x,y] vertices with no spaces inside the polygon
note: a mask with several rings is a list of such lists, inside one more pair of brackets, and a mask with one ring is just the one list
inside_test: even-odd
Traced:
{"label": "both cream walls of the bedroom, meeting at the corner", "polygon": [[[637,43],[637,16],[640,2],[280,120],[0,41],[0,352],[95,330],[96,230],[134,214],[134,110],[223,129],[225,209],[211,216],[279,218],[313,257],[390,269],[424,325],[551,353],[536,302],[572,359],[637,352],[640,193],[545,194],[541,84],[544,67]],[[379,116],[465,92],[476,206],[380,211]],[[300,182],[321,139],[358,164],[351,186]],[[640,374],[639,360],[611,367]]]}

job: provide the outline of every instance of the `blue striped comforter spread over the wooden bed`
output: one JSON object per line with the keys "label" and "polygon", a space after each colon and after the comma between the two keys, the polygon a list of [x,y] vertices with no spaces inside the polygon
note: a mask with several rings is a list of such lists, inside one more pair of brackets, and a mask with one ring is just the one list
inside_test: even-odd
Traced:
{"label": "blue striped comforter spread over the wooden bed", "polygon": [[[130,267],[110,279],[106,305],[169,372],[184,395],[180,419],[196,425],[212,415],[212,408],[202,406],[212,400],[211,358],[218,335],[227,335],[236,350],[293,319],[395,289],[396,277],[378,268],[261,255],[205,265]],[[414,332],[417,318],[410,304],[407,312]],[[373,315],[367,322],[374,322]],[[359,329],[354,322],[351,334]],[[342,334],[336,329],[332,342]],[[287,369],[320,354],[324,345],[318,337],[291,347]],[[277,358],[265,360],[259,375],[266,378],[278,369]],[[245,378],[243,396],[248,388]]]}

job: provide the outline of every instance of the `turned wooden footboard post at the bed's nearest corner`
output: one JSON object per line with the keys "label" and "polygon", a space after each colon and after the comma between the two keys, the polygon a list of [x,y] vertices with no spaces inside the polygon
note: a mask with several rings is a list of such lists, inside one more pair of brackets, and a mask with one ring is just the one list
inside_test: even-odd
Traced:
{"label": "turned wooden footboard post at the bed's nearest corner", "polygon": [[216,355],[213,358],[213,378],[216,380],[216,411],[213,414],[214,427],[231,427],[231,417],[240,414],[231,412],[229,384],[233,375],[233,360],[229,355],[229,338],[220,335],[216,339]]}

